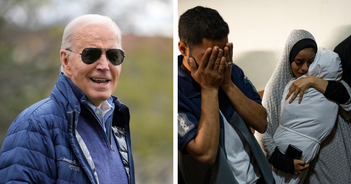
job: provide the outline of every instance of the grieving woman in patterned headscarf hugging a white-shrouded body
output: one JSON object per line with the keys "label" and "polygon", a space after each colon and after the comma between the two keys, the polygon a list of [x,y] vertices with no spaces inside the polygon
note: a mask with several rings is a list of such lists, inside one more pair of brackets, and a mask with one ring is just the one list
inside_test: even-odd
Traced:
{"label": "grieving woman in patterned headscarf hugging a white-shrouded body", "polygon": [[[299,77],[308,70],[308,67],[307,69],[306,67],[294,68],[293,65],[298,63],[298,61],[294,60],[291,62],[290,59],[291,53],[295,50],[293,49],[294,45],[303,39],[314,40],[311,33],[305,30],[293,30],[290,33],[277,67],[266,85],[262,99],[262,104],[268,113],[267,130],[264,134],[255,132],[255,137],[266,153],[270,163],[275,168],[287,173],[301,172],[303,168],[308,167],[308,164],[304,164],[303,161],[286,157],[285,154],[276,149],[276,145],[273,141],[273,135],[279,126],[281,111],[280,102],[283,98],[285,86],[291,79]],[[313,46],[313,44],[311,45]],[[304,50],[304,47],[301,49]],[[297,50],[299,52],[302,51],[299,49]],[[297,55],[292,57],[296,58]],[[335,88],[335,86],[338,88]],[[344,134],[351,134],[351,128],[347,129],[347,120],[340,116],[342,113],[341,111],[351,112],[351,89],[344,81],[338,83],[311,76],[295,81],[288,95],[292,95],[292,100],[294,100],[294,98],[300,94],[298,100],[301,102],[301,100],[303,101],[302,96],[304,91],[310,87],[322,92],[325,97],[338,102],[340,104],[340,110],[335,128],[330,136],[321,144],[319,156],[311,162],[311,168],[309,169],[305,183],[351,183],[351,143],[348,142],[351,138],[345,139],[345,137],[343,137]],[[339,96],[344,95],[346,97],[338,99]]]}

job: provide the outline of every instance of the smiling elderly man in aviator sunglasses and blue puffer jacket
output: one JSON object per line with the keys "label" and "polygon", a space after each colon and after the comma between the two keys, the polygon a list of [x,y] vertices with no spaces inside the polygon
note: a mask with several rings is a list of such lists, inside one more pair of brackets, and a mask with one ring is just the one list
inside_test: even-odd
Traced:
{"label": "smiling elderly man in aviator sunglasses and blue puffer jacket", "polygon": [[113,96],[124,52],[110,18],[65,28],[51,95],[24,110],[0,150],[0,183],[135,183],[130,111]]}

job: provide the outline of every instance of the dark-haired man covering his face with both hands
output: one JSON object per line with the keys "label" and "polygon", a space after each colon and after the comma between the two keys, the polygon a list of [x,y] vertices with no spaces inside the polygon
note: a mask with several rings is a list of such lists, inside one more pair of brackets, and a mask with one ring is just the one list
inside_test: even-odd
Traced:
{"label": "dark-haired man covering his face with both hands", "polygon": [[178,166],[185,183],[273,183],[250,127],[265,132],[267,113],[232,63],[229,27],[195,7],[179,19]]}

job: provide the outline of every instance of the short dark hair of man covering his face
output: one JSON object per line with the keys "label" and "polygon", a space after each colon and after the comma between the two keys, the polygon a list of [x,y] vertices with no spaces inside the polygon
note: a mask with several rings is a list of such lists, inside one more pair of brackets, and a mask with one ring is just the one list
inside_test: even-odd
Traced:
{"label": "short dark hair of man covering his face", "polygon": [[229,27],[219,13],[211,8],[197,6],[180,15],[178,24],[180,41],[190,48],[202,39],[221,40],[228,36]]}

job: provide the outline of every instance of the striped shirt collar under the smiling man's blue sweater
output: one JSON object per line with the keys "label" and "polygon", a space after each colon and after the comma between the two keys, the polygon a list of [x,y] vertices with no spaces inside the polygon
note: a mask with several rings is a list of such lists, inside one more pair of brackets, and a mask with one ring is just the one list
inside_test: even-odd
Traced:
{"label": "striped shirt collar under the smiling man's blue sweater", "polygon": [[[108,98],[106,101],[102,102],[100,108],[96,107],[94,104],[89,102],[86,98],[84,101],[93,109],[94,114],[99,118],[100,124],[104,131],[106,132],[106,125],[109,122],[106,122],[107,118],[110,117],[113,113],[113,99],[112,97]],[[106,132],[108,135],[108,132]]]}

